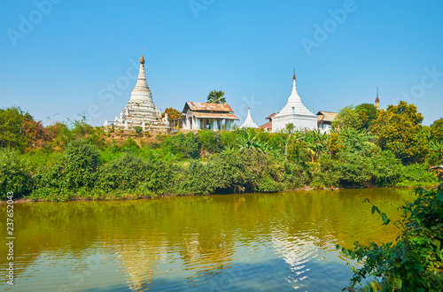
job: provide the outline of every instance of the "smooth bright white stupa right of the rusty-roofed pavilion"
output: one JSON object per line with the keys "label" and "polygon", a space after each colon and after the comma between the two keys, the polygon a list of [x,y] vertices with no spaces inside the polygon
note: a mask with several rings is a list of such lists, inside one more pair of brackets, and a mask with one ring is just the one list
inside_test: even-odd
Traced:
{"label": "smooth bright white stupa right of the rusty-roofed pavilion", "polygon": [[301,98],[297,93],[297,84],[294,77],[292,78],[292,93],[288,98],[288,102],[284,105],[282,111],[276,113],[272,118],[272,132],[278,132],[287,124],[292,124],[297,130],[314,130],[317,128],[317,116],[301,102]]}

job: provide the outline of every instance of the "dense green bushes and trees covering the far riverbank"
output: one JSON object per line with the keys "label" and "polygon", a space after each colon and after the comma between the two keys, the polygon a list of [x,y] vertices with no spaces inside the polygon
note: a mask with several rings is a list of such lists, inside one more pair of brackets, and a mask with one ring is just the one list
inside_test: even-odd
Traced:
{"label": "dense green bushes and trees covering the far riverbank", "polygon": [[421,125],[416,106],[372,104],[339,112],[330,134],[259,129],[150,134],[43,127],[17,107],[0,110],[2,198],[66,201],[276,192],[294,188],[432,186],[442,163],[443,122]]}

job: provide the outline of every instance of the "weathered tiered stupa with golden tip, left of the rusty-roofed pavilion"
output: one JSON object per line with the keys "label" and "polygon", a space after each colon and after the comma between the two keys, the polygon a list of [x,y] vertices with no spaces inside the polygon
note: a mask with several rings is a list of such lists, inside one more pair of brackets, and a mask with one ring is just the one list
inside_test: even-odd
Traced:
{"label": "weathered tiered stupa with golden tip, left of the rusty-roofed pavilion", "polygon": [[[105,128],[107,125],[105,120]],[[120,117],[115,116],[113,127],[123,129],[134,129],[134,127],[142,127],[143,130],[166,130],[168,125],[166,119],[161,119],[161,114],[152,101],[152,92],[146,82],[146,74],[144,73],[144,54],[140,58],[140,71],[136,82],[136,88],[132,90],[128,104],[120,112]],[[146,128],[147,127],[147,128]]]}

